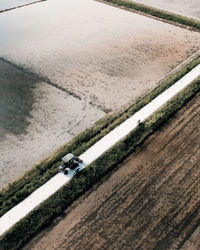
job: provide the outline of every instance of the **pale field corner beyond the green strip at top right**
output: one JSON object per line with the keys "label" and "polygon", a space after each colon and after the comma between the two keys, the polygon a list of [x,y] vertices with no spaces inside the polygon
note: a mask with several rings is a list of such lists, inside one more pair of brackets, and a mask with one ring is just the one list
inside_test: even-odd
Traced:
{"label": "pale field corner beyond the green strip at top right", "polygon": [[170,11],[178,15],[200,20],[199,0],[134,0],[134,2],[142,3],[158,9]]}

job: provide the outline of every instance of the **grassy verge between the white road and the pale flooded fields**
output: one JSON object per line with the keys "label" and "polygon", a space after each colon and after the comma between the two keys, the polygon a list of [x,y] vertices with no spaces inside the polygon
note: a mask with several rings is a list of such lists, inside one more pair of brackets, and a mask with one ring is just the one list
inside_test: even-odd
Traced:
{"label": "grassy verge between the white road and the pale flooded fields", "polygon": [[138,100],[134,105],[117,116],[106,116],[98,121],[92,128],[86,129],[69,143],[61,146],[48,158],[42,160],[32,169],[25,172],[19,179],[10,183],[0,192],[0,216],[30,195],[39,186],[44,184],[57,173],[60,159],[63,155],[72,152],[79,155],[91,147],[95,142],[109,133],[113,128],[125,121],[128,117],[140,110],[152,99],[173,85],[183,75],[200,63],[197,58],[187,65],[184,65],[178,72],[168,76],[158,88],[154,89],[143,99]]}

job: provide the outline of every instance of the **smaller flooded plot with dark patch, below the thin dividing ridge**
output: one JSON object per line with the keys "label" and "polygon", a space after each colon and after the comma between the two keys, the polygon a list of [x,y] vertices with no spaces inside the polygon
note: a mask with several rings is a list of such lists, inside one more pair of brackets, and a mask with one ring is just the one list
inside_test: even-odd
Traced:
{"label": "smaller flooded plot with dark patch, below the thin dividing ridge", "polygon": [[0,60],[0,188],[104,114]]}

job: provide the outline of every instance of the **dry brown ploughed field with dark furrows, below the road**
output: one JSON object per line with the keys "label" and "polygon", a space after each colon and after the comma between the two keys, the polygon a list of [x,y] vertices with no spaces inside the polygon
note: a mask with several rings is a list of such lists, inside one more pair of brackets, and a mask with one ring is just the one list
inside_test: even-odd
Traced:
{"label": "dry brown ploughed field with dark furrows, below the road", "polygon": [[200,94],[24,249],[199,249],[199,125]]}

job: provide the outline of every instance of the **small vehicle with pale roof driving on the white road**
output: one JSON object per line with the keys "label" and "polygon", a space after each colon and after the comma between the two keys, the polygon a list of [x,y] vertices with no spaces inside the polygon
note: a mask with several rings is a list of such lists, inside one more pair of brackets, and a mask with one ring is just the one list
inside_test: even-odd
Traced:
{"label": "small vehicle with pale roof driving on the white road", "polygon": [[83,161],[69,153],[62,158],[63,163],[59,166],[59,172],[67,175],[69,172],[76,174],[80,171]]}

